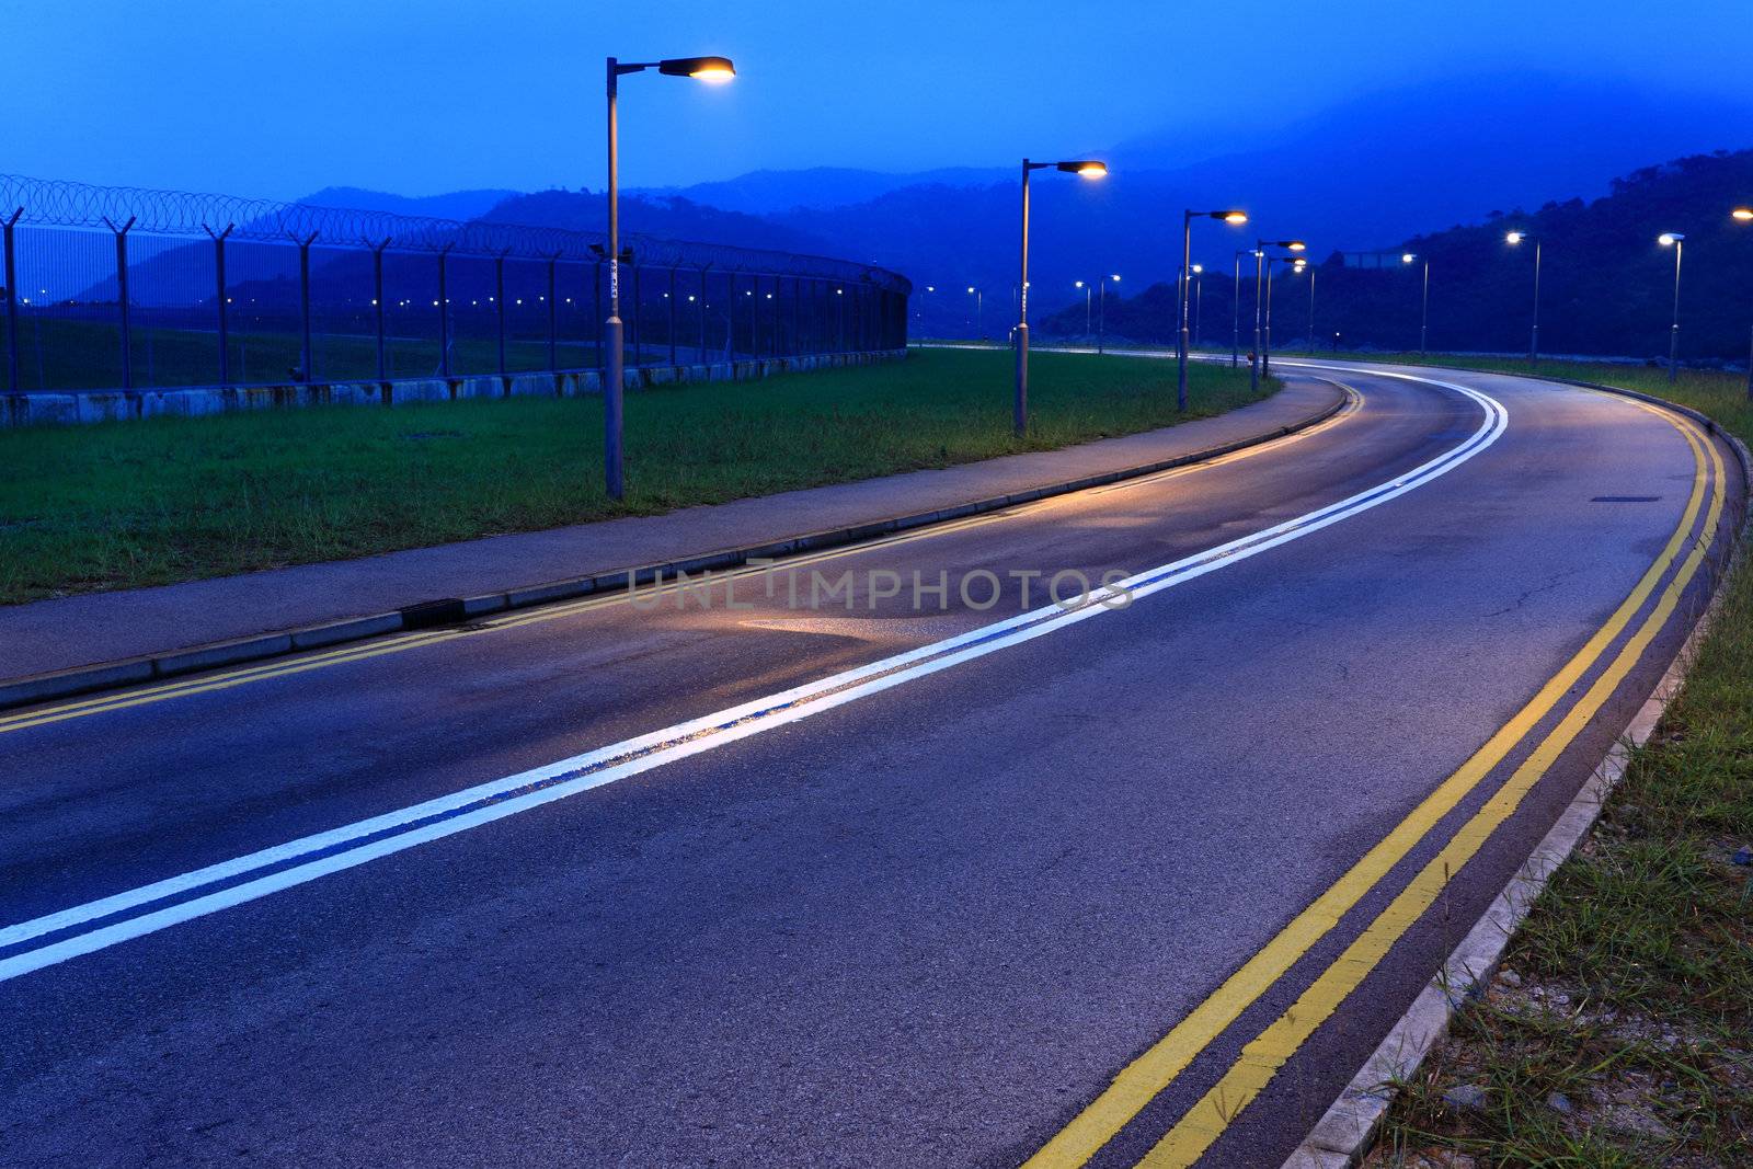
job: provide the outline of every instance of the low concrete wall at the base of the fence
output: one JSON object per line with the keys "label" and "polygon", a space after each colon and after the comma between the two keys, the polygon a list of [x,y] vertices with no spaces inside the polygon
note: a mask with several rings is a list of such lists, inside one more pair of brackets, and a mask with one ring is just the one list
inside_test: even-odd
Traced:
{"label": "low concrete wall at the base of the fence", "polygon": [[[689,382],[750,382],[775,373],[838,370],[852,365],[898,361],[905,349],[873,352],[805,354],[799,358],[750,358],[710,365],[659,365],[626,372],[628,389],[680,386]],[[394,382],[314,382],[310,386],[193,386],[186,389],[89,389],[79,393],[0,394],[0,426],[68,426],[151,417],[198,417],[230,410],[273,410],[286,407],[394,407],[414,401],[459,401],[465,398],[580,398],[603,391],[596,370],[557,373],[472,373]]]}

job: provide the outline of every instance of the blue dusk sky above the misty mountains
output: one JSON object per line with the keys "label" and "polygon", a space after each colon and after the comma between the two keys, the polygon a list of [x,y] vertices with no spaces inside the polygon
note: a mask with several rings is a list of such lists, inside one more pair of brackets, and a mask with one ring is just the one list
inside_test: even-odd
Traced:
{"label": "blue dusk sky above the misty mountains", "polygon": [[603,58],[724,53],[729,86],[631,77],[628,186],[756,168],[1013,165],[1271,131],[1366,91],[1541,70],[1748,98],[1744,0],[5,0],[0,168],[293,198],[603,184]]}

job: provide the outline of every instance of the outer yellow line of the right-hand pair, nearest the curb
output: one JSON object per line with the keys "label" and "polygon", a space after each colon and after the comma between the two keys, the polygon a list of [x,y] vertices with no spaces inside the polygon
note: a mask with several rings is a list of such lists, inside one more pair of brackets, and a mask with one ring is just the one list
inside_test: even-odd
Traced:
{"label": "outer yellow line of the right-hand pair, nearest the curb", "polygon": [[[1693,442],[1690,429],[1683,428],[1686,440]],[[1229,1123],[1271,1083],[1278,1069],[1315,1034],[1345,999],[1357,990],[1364,978],[1387,957],[1395,941],[1411,929],[1425,910],[1443,894],[1443,889],[1460,873],[1492,832],[1508,820],[1522,804],[1522,799],[1557,762],[1558,755],[1576,740],[1588,722],[1600,712],[1618,685],[1650,648],[1650,641],[1662,631],[1667,619],[1679,605],[1681,594],[1697,575],[1704,556],[1714,540],[1716,522],[1723,512],[1723,461],[1714,443],[1707,445],[1716,473],[1711,492],[1711,510],[1704,529],[1686,557],[1681,570],[1662,592],[1662,599],[1650,617],[1620,648],[1613,664],[1608,666],[1595,684],[1588,687],[1583,699],[1541,740],[1539,747],[1509,776],[1502,789],[1494,794],[1483,808],[1430,859],[1418,876],[1397,896],[1364,932],[1345,948],[1332,966],[1297,995],[1297,1001],[1278,1017],[1257,1039],[1241,1050],[1241,1059],[1224,1074],[1217,1085],[1206,1092],[1182,1120],[1145,1155],[1139,1165],[1148,1169],[1185,1169],[1199,1160],[1211,1143],[1224,1134]],[[1693,442],[1693,454],[1697,443]]]}

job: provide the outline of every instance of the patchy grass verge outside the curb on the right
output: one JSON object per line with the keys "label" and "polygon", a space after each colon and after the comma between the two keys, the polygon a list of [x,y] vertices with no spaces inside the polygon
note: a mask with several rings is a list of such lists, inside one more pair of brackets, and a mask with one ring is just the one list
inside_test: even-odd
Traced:
{"label": "patchy grass verge outside the curb on the right", "polygon": [[[1537,372],[1683,401],[1753,440],[1739,375],[1681,373],[1669,386],[1639,366]],[[1490,988],[1401,1085],[1366,1164],[1753,1165],[1749,843],[1753,563],[1742,559],[1662,727]]]}

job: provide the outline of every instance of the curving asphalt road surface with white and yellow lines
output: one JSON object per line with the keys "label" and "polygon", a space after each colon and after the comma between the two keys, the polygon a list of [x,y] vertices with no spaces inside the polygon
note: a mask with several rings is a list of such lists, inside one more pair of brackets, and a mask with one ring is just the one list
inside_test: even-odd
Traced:
{"label": "curving asphalt road surface with white and yellow lines", "polygon": [[1744,494],[1623,398],[1327,377],[1213,464],[0,715],[0,1164],[1276,1165]]}

